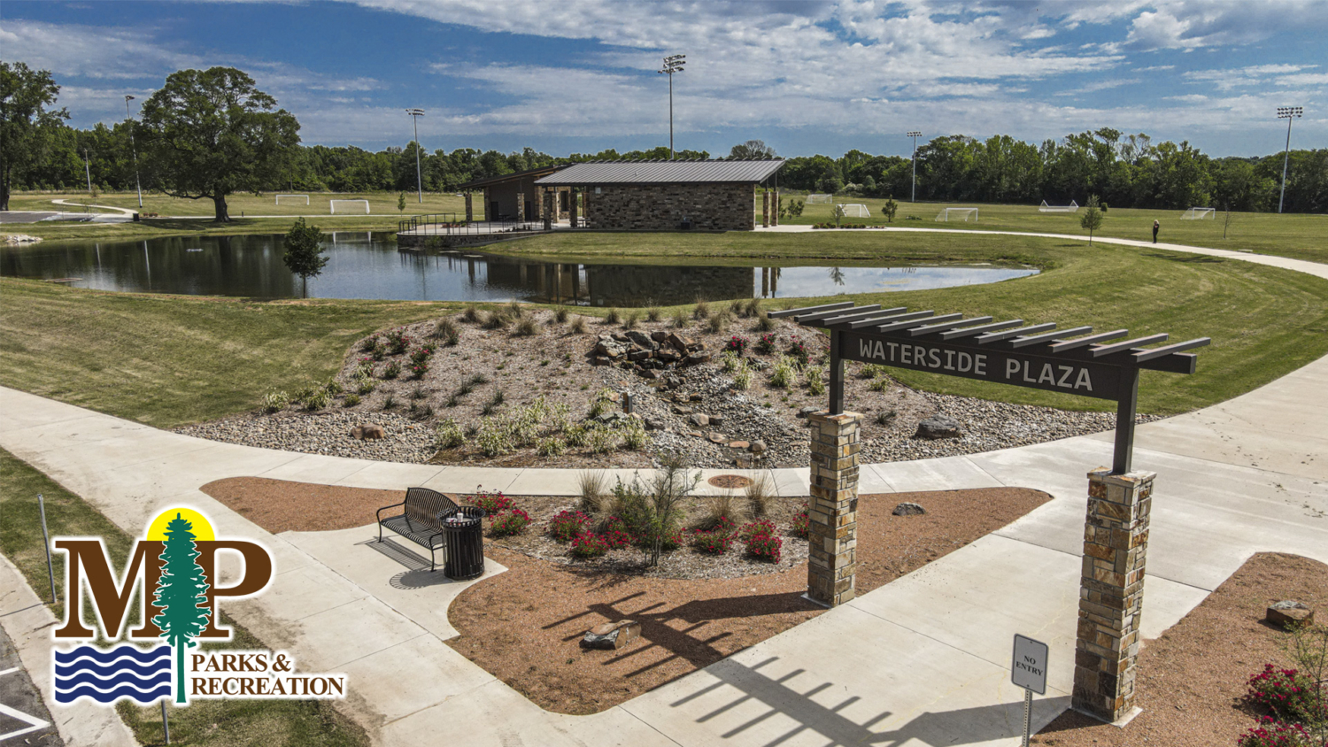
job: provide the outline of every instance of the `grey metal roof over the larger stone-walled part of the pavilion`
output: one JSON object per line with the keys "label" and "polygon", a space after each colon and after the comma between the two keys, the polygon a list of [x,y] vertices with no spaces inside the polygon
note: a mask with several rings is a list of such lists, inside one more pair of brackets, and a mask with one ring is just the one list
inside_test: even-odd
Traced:
{"label": "grey metal roof over the larger stone-walled part of the pavilion", "polygon": [[784,166],[764,161],[587,161],[537,180],[543,187],[580,184],[760,183]]}

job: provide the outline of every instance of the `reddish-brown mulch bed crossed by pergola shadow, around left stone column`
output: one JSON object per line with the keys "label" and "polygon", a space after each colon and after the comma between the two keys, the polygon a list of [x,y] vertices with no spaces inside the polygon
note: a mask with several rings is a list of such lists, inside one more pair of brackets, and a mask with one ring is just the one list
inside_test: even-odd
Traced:
{"label": "reddish-brown mulch bed crossed by pergola shadow, around left stone column", "polygon": [[[927,509],[892,516],[900,502]],[[865,495],[858,504],[858,590],[870,592],[1028,513],[1046,494],[991,488]],[[736,551],[734,551],[736,552]],[[466,658],[538,703],[592,714],[758,644],[823,608],[802,597],[806,565],[738,578],[656,578],[560,565],[490,547],[509,571],[449,608]],[[582,650],[582,634],[636,620],[641,638]]]}

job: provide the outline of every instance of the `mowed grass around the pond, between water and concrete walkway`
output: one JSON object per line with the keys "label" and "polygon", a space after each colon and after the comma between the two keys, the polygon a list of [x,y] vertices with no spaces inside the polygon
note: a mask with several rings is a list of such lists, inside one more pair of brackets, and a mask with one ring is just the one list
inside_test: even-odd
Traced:
{"label": "mowed grass around the pond, between water and concrete walkway", "polygon": [[[615,261],[1023,263],[1037,276],[858,303],[964,312],[1062,328],[1212,337],[1198,374],[1145,372],[1141,410],[1212,405],[1328,353],[1328,281],[1252,263],[1033,236],[887,234],[578,234],[502,244],[507,253]],[[768,308],[849,296],[781,300]],[[712,303],[722,299],[709,299]],[[325,379],[359,337],[456,313],[457,304],[167,297],[0,280],[0,383],[170,427],[258,406],[270,387]],[[604,314],[607,309],[584,310]],[[746,322],[744,322],[746,324]],[[734,333],[752,334],[734,324]],[[559,344],[562,332],[543,330]],[[1108,409],[1104,401],[894,370],[911,386],[1008,402]]]}

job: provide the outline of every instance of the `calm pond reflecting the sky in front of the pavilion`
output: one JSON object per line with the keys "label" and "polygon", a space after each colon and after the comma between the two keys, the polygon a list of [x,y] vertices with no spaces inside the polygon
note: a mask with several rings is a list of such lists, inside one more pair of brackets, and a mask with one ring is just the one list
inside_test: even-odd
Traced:
{"label": "calm pond reflecting the sky in front of the pavilion", "polygon": [[[993,265],[809,267],[543,261],[479,251],[398,251],[390,234],[325,235],[328,264],[311,299],[672,305],[705,299],[798,297],[995,283],[1036,268]],[[0,248],[0,276],[76,288],[291,299],[300,279],[282,263],[282,236],[171,236],[139,241],[44,241]]]}

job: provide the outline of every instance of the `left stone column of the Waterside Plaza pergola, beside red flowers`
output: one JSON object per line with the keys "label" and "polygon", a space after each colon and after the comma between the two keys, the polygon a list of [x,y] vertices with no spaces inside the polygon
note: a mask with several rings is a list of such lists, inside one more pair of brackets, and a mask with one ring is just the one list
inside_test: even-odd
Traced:
{"label": "left stone column of the Waterside Plaza pergola, beside red flowers", "polygon": [[839,606],[855,594],[858,569],[858,433],[862,415],[807,415],[811,427],[807,596]]}

